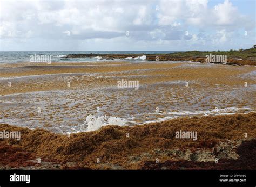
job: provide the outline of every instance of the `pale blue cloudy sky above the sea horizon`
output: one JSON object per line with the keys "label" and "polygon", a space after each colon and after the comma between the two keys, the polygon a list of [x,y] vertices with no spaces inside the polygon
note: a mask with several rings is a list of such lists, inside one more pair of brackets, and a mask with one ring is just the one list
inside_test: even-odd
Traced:
{"label": "pale blue cloudy sky above the sea horizon", "polygon": [[0,0],[0,51],[217,51],[256,44],[254,0]]}

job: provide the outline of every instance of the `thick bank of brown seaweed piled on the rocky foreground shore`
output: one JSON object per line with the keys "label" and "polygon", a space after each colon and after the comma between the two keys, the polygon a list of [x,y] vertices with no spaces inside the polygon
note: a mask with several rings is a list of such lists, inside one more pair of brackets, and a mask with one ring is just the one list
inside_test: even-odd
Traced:
{"label": "thick bank of brown seaweed piled on the rocky foreground shore", "polygon": [[[0,139],[0,167],[256,169],[255,162],[251,162],[256,155],[255,117],[256,113],[184,117],[133,127],[109,125],[70,136],[1,124],[0,131],[21,132],[21,141]],[[175,138],[180,130],[196,131],[197,140]]]}

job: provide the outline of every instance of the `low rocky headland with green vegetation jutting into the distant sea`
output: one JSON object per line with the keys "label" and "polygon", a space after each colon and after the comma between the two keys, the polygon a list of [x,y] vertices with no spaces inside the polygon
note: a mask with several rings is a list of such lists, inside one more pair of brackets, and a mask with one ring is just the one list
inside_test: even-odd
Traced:
{"label": "low rocky headland with green vegetation jutting into the distant sea", "polygon": [[[256,50],[251,49],[240,49],[239,51],[187,51],[187,52],[173,52],[173,53],[159,53],[159,54],[69,54],[65,58],[85,58],[85,57],[100,57],[106,60],[114,59],[136,59],[141,58],[146,55],[145,60],[147,61],[191,61],[191,62],[201,62],[205,63],[207,55],[225,55],[227,57],[227,64],[237,64],[237,65],[256,65]],[[215,61],[213,63],[223,63],[221,61]]]}

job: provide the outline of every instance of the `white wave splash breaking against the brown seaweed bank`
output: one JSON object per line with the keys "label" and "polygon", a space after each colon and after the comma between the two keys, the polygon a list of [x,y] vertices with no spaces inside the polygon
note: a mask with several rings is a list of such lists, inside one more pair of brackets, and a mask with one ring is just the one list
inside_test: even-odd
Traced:
{"label": "white wave splash breaking against the brown seaweed bank", "polygon": [[84,122],[83,126],[87,126],[86,131],[96,131],[100,127],[106,125],[118,125],[124,126],[126,123],[125,119],[114,117],[114,116],[93,116],[89,115],[86,117],[86,121]]}

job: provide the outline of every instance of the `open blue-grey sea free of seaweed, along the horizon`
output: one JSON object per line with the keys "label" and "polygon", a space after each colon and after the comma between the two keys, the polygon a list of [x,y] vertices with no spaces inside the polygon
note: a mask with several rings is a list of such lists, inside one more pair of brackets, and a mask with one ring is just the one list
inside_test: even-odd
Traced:
{"label": "open blue-grey sea free of seaweed, along the horizon", "polygon": [[[66,58],[68,54],[167,54],[175,51],[8,51],[0,52],[0,63],[18,63],[30,62],[31,55],[51,55],[51,62],[91,62],[91,61],[105,61],[97,57],[88,58]],[[117,59],[118,60],[118,59]],[[127,61],[145,60],[144,57],[138,56],[135,59],[125,59]],[[108,60],[110,61],[110,60]]]}

